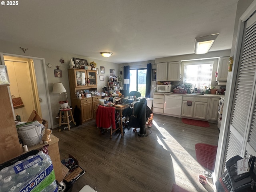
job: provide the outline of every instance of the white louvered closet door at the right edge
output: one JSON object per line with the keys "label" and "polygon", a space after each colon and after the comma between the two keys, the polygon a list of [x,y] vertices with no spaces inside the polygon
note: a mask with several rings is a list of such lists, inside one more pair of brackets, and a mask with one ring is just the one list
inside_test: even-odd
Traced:
{"label": "white louvered closet door at the right edge", "polygon": [[256,155],[256,14],[245,23],[242,46],[226,161],[235,155]]}

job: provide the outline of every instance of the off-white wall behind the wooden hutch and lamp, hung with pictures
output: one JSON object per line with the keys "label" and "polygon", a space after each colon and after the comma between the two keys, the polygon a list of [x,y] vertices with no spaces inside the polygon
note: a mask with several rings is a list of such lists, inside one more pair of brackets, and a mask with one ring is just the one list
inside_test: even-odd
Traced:
{"label": "off-white wall behind the wooden hutch and lamp, hung with pictures", "polygon": [[[26,53],[24,53],[20,49],[20,47],[28,48],[28,50],[26,50]],[[116,70],[116,74],[119,74],[119,66],[116,63],[106,62],[103,60],[96,60],[93,58],[89,58],[86,56],[80,56],[80,55],[76,55],[76,54],[72,54],[72,53],[58,52],[58,51],[50,50],[50,49],[46,50],[46,49],[40,48],[40,45],[38,45],[38,47],[33,47],[33,46],[29,46],[29,45],[12,44],[12,43],[0,40],[0,52],[8,53],[8,54],[17,54],[17,55],[21,55],[21,56],[44,58],[46,65],[48,63],[50,63],[52,65],[52,68],[48,68],[46,66],[46,73],[47,73],[47,79],[48,79],[48,89],[49,89],[49,93],[50,93],[50,102],[51,102],[52,118],[53,118],[54,125],[58,124],[58,121],[56,121],[55,117],[59,112],[58,101],[60,100],[60,95],[52,93],[53,84],[56,82],[62,82],[62,84],[64,85],[64,87],[67,90],[69,102],[70,102],[70,94],[74,94],[74,93],[70,93],[69,82],[68,82],[68,68],[69,68],[70,59],[72,59],[73,57],[86,59],[88,64],[91,61],[96,62],[97,68],[99,68],[97,82],[98,82],[98,91],[100,91],[100,92],[102,92],[102,88],[105,85],[107,85],[108,77],[110,74],[110,72],[109,72],[110,69]],[[60,59],[63,59],[64,63],[61,64],[59,61]],[[104,59],[104,58],[102,57],[102,59]],[[54,77],[54,69],[56,69],[55,66],[57,66],[57,65],[59,66],[59,69],[62,70],[62,78]],[[100,66],[105,67],[104,74],[100,73]],[[100,75],[104,75],[105,81],[100,81]]]}

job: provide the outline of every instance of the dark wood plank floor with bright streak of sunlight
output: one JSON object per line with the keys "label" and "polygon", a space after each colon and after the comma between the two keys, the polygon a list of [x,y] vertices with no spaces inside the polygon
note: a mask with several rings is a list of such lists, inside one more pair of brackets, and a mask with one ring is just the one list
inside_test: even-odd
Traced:
{"label": "dark wood plank floor with bright streak of sunlight", "polygon": [[202,185],[198,175],[202,167],[196,160],[195,144],[218,144],[217,124],[204,128],[184,124],[181,118],[154,114],[147,137],[133,128],[125,134],[100,135],[95,120],[70,131],[54,129],[60,139],[60,158],[72,154],[86,172],[78,178],[72,192],[89,185],[98,192],[170,192],[172,184],[190,192],[214,192],[212,179]]}

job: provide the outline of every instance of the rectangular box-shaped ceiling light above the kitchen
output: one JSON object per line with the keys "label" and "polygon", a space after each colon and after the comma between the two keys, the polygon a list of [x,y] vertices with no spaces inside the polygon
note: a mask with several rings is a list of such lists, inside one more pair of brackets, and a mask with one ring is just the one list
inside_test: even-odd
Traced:
{"label": "rectangular box-shaped ceiling light above the kitchen", "polygon": [[212,34],[203,37],[197,37],[195,40],[195,54],[205,54],[210,50],[213,42],[219,34]]}

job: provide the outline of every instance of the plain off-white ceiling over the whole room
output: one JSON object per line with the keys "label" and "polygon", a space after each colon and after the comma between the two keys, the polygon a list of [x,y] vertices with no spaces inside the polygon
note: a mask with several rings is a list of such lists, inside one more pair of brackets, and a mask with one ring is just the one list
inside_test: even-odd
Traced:
{"label": "plain off-white ceiling over the whole room", "polygon": [[[0,6],[0,39],[114,63],[231,49],[238,0],[22,0]],[[109,58],[102,51],[113,52]],[[29,53],[28,53],[29,54]]]}

